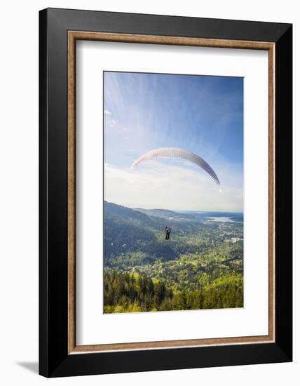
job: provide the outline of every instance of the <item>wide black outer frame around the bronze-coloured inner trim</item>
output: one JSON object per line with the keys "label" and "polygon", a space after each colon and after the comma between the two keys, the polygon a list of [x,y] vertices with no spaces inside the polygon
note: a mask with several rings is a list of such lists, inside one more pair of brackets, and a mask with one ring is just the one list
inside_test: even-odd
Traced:
{"label": "wide black outer frame around the bronze-coloured inner trim", "polygon": [[[275,44],[275,342],[68,354],[67,32]],[[39,373],[46,377],[292,361],[292,25],[48,8],[39,13]]]}

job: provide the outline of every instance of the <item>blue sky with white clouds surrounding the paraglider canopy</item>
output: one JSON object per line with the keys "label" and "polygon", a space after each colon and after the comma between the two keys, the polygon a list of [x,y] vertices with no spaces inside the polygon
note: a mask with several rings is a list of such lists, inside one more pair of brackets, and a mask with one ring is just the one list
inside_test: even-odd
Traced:
{"label": "blue sky with white clouds surrounding the paraglider canopy", "polygon": [[[132,163],[180,147],[184,159]],[[130,208],[243,211],[243,78],[104,72],[104,199]]]}

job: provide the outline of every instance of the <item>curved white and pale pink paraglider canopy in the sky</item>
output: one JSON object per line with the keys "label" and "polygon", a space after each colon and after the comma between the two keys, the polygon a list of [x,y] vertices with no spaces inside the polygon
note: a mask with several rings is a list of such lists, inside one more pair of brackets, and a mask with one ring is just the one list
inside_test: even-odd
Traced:
{"label": "curved white and pale pink paraglider canopy in the sky", "polygon": [[188,150],[180,149],[179,147],[160,147],[158,149],[150,150],[150,152],[143,154],[130,166],[130,171],[139,166],[139,164],[142,164],[144,161],[157,157],[176,157],[187,159],[193,164],[200,166],[200,168],[203,168],[203,170],[210,175],[212,180],[214,180],[217,185],[220,185],[217,174],[214,173],[212,167],[207,164],[203,158],[199,157],[197,154],[189,152]]}

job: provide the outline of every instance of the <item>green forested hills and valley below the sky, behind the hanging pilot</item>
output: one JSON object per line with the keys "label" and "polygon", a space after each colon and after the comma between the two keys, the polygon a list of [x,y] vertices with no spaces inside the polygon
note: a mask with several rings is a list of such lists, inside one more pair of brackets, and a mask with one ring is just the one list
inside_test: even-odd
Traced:
{"label": "green forested hills and valley below the sky, behind the hanging pilot", "polygon": [[243,307],[243,214],[104,202],[104,312],[224,307]]}

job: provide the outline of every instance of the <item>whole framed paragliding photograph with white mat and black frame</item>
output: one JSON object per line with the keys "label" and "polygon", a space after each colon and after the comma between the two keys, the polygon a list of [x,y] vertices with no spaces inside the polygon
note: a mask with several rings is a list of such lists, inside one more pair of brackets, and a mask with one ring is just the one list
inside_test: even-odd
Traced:
{"label": "whole framed paragliding photograph with white mat and black frame", "polygon": [[41,375],[292,361],[292,25],[39,16]]}

